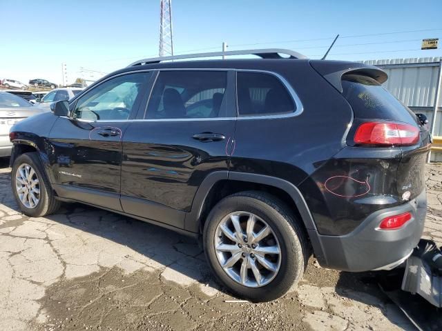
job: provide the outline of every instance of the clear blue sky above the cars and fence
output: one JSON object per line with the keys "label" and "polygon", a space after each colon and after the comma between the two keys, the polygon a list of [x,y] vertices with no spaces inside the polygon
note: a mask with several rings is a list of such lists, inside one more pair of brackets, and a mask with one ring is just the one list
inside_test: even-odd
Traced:
{"label": "clear blue sky above the cars and fence", "polygon": [[[311,59],[442,57],[442,0],[173,0],[174,54],[289,48]],[[0,79],[97,79],[157,57],[160,0],[0,0]],[[438,50],[421,39],[441,38]],[[361,45],[363,44],[363,45]],[[88,70],[86,72],[86,70]]]}

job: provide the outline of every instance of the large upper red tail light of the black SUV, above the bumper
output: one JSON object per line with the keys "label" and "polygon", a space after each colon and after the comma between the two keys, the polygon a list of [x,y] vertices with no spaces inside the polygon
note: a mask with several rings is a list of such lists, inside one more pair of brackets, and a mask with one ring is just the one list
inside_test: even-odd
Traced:
{"label": "large upper red tail light of the black SUV, above the bumper", "polygon": [[405,123],[366,122],[354,134],[354,142],[358,145],[405,146],[418,141],[419,129]]}

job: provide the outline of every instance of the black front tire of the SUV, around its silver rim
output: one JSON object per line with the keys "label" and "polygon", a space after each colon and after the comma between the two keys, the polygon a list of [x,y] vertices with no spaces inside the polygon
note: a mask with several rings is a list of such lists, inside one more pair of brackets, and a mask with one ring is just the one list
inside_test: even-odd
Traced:
{"label": "black front tire of the SUV, around its silver rim", "polygon": [[[21,202],[19,195],[17,194],[15,174],[17,173],[17,169],[23,163],[27,163],[35,170],[35,174],[39,180],[40,197],[35,208],[27,208],[26,205]],[[20,210],[23,212],[23,214],[30,217],[41,217],[48,214],[53,214],[60,208],[61,202],[55,199],[55,194],[52,191],[50,182],[46,177],[46,173],[44,172],[37,152],[24,153],[15,159],[11,172],[11,188],[15,201],[17,201],[17,205],[19,205]]]}

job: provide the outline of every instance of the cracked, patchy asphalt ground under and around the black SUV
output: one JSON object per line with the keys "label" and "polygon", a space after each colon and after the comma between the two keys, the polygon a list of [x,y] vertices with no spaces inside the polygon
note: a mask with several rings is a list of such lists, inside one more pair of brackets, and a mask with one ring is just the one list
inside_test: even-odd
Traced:
{"label": "cracked, patchy asphalt ground under and around the black SUV", "polygon": [[[80,204],[26,217],[2,162],[0,330],[414,330],[364,274],[313,258],[285,297],[226,302],[190,239]],[[424,236],[441,245],[442,165],[426,176]]]}

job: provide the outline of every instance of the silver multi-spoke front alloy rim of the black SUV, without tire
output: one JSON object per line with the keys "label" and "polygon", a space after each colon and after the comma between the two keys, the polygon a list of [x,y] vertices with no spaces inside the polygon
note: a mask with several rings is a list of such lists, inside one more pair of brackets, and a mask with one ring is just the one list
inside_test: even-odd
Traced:
{"label": "silver multi-spoke front alloy rim of the black SUV, without tire", "polygon": [[37,207],[40,201],[40,181],[35,170],[23,163],[15,173],[15,187],[17,195],[26,208]]}

